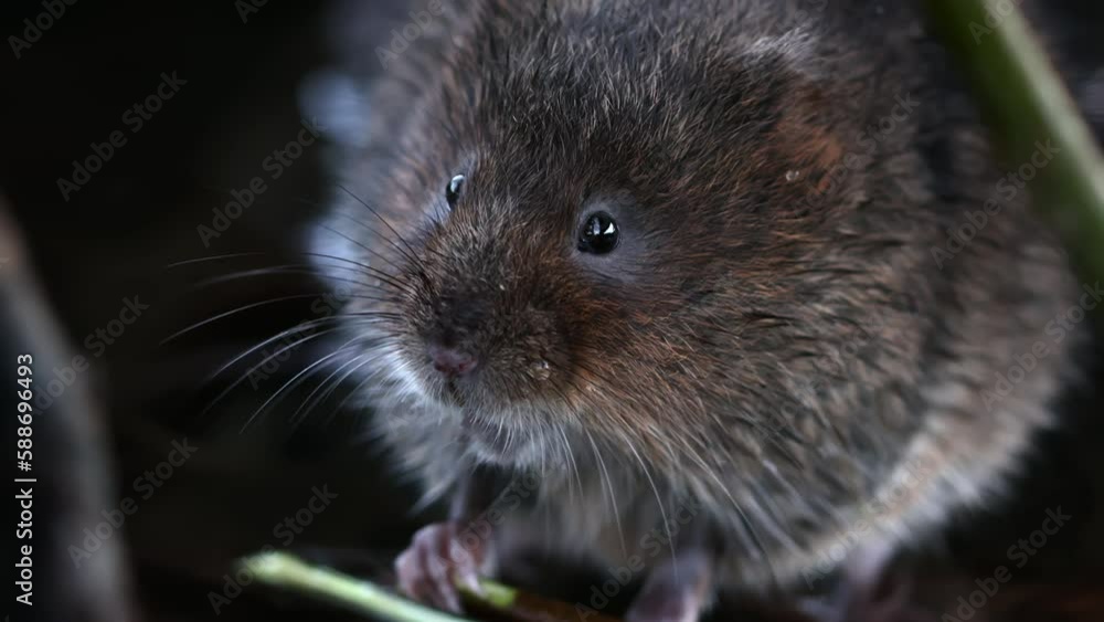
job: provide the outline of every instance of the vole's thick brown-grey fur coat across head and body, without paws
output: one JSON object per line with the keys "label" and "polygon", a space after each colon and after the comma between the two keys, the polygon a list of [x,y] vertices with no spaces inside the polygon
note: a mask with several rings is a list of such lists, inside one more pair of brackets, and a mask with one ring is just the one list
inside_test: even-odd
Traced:
{"label": "vole's thick brown-grey fur coat across head and body, without paws", "polygon": [[[1081,330],[1022,381],[997,375],[1076,285],[1026,192],[934,252],[999,173],[909,10],[857,27],[850,3],[802,23],[773,0],[546,4],[484,0],[412,44],[379,86],[399,120],[343,171],[386,221],[339,194],[371,249],[351,259],[388,293],[350,303],[380,320],[349,329],[379,344],[363,391],[403,466],[446,494],[481,455],[475,411],[537,444],[519,466],[546,461],[538,510],[573,541],[617,541],[619,518],[631,549],[693,507],[722,582],[999,494]],[[602,192],[631,197],[647,241],[631,280],[572,254]],[[485,367],[459,405],[422,349],[458,314]]]}

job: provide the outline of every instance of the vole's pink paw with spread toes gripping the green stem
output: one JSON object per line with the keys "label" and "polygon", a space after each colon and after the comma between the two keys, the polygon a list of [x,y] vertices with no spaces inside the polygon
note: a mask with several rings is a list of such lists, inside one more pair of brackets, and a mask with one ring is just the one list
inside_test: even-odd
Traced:
{"label": "vole's pink paw with spread toes gripping the green stem", "polygon": [[395,559],[399,589],[417,601],[460,613],[457,584],[478,592],[479,573],[490,558],[491,542],[459,523],[436,523],[414,534]]}

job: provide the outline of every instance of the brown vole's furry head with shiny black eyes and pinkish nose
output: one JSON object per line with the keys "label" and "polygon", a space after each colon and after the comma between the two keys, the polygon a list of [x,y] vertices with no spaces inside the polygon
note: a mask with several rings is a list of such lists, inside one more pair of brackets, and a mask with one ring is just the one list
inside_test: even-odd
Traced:
{"label": "brown vole's furry head with shiny black eyes and pinkish nose", "polygon": [[[880,254],[903,242],[856,217],[880,148],[848,120],[862,104],[821,82],[800,29],[678,6],[487,9],[380,98],[402,122],[347,177],[386,224],[347,202],[389,296],[351,310],[391,314],[378,371],[453,413],[482,460],[571,443],[755,479],[840,443],[867,363],[919,348]],[[860,337],[874,354],[847,360]],[[880,439],[914,424],[892,425]]]}

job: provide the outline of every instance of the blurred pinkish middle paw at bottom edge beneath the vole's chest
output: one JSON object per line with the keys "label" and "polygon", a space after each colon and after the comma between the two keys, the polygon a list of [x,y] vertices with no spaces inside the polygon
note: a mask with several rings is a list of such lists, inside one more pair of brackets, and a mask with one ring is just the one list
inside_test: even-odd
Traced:
{"label": "blurred pinkish middle paw at bottom edge beneath the vole's chest", "polygon": [[698,622],[712,587],[711,570],[698,551],[687,551],[656,568],[625,614],[625,622]]}

